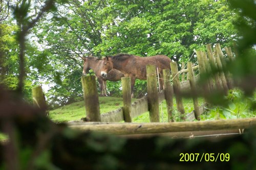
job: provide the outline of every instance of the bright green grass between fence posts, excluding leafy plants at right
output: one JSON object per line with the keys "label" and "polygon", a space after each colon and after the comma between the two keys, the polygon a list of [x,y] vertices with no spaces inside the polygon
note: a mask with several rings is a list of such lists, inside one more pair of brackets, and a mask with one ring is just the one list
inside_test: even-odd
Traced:
{"label": "bright green grass between fence posts, excluding leafy plants at right", "polygon": [[[132,102],[136,99],[132,99]],[[203,104],[203,100],[199,99],[200,105]],[[113,97],[100,97],[100,113],[106,113],[115,109],[122,107],[122,98]],[[183,105],[186,113],[191,112],[194,109],[193,101],[191,99],[183,99]],[[162,109],[161,109],[162,106]],[[165,101],[159,106],[160,110],[160,122],[168,122],[167,119],[167,109]],[[174,99],[174,116],[176,120],[179,120],[179,113],[177,111],[176,101]],[[84,107],[84,102],[75,102],[67,106],[60,107],[58,109],[49,112],[49,117],[54,122],[69,122],[72,120],[80,120],[82,117],[86,117],[86,111]],[[150,122],[149,113],[145,112],[140,116],[133,118],[133,122],[146,123]]]}

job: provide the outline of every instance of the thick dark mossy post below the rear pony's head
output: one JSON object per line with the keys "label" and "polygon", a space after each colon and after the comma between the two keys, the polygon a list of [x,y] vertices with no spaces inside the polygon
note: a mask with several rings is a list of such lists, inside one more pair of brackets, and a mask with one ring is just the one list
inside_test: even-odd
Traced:
{"label": "thick dark mossy post below the rear pony's head", "polygon": [[90,122],[100,122],[99,97],[95,76],[82,76],[82,89],[86,117]]}

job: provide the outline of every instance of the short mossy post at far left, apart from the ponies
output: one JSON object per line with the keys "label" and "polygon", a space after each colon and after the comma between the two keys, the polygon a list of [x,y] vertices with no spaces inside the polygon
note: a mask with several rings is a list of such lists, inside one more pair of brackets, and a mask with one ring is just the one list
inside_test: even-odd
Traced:
{"label": "short mossy post at far left, apart from the ponies", "polygon": [[46,113],[46,99],[44,92],[42,92],[41,86],[36,86],[32,88],[32,98],[33,105],[41,109],[45,114]]}

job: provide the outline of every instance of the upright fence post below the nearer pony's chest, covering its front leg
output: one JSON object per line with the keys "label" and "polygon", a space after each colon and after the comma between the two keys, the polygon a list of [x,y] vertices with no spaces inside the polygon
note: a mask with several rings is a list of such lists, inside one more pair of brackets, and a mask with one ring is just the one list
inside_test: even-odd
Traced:
{"label": "upright fence post below the nearer pony's chest, covering its front leg", "polygon": [[132,96],[131,96],[131,78],[122,77],[123,92],[123,117],[124,122],[132,122]]}

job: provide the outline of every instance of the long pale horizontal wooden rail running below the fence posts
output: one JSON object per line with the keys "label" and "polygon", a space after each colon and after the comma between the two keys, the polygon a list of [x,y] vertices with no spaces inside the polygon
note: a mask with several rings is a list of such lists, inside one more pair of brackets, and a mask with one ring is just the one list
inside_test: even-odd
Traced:
{"label": "long pale horizontal wooden rail running below the fence posts", "polygon": [[117,135],[168,133],[186,131],[209,131],[245,129],[256,126],[256,118],[222,119],[198,122],[172,122],[172,123],[116,123],[99,125],[71,125],[71,128],[82,131],[100,131]]}

